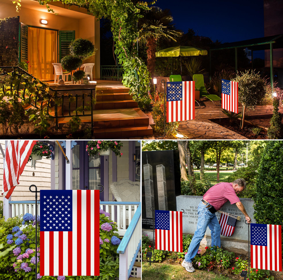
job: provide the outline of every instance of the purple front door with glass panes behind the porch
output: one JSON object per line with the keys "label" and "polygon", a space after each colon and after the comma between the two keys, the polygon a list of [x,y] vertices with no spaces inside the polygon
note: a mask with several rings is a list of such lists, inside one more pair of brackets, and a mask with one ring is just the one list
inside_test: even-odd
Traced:
{"label": "purple front door with glass panes behind the porch", "polygon": [[[104,184],[103,157],[89,156],[86,152],[88,141],[77,141],[73,148],[73,190],[102,190]],[[100,193],[104,201],[104,192]]]}

